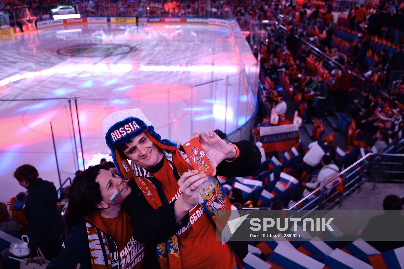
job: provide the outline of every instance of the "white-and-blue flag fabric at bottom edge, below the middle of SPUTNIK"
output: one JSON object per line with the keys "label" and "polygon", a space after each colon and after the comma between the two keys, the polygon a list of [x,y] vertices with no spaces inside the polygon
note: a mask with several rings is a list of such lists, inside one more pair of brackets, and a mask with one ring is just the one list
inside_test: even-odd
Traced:
{"label": "white-and-blue flag fabric at bottom edge, below the middle of SPUTNIK", "polygon": [[316,261],[314,258],[297,251],[295,248],[286,246],[285,244],[278,244],[274,252],[269,255],[267,261],[271,265],[277,265],[283,268],[293,269],[322,269],[323,263]]}

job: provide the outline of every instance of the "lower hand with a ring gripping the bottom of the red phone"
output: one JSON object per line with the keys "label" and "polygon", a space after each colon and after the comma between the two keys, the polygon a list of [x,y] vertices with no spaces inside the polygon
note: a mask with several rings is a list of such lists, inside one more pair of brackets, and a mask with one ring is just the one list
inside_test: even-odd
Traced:
{"label": "lower hand with a ring gripping the bottom of the red phone", "polygon": [[177,223],[199,203],[199,190],[203,183],[208,180],[205,173],[200,173],[198,170],[192,170],[182,174],[178,181],[181,196],[177,199],[174,205],[175,219]]}

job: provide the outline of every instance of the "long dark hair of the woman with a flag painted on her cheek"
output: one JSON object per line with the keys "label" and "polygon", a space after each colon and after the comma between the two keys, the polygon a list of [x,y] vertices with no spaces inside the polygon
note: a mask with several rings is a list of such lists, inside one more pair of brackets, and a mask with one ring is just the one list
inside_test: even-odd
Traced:
{"label": "long dark hair of the woman with a flag painted on her cheek", "polygon": [[70,230],[84,216],[93,216],[98,210],[97,204],[102,201],[100,185],[95,182],[101,169],[105,166],[97,164],[88,167],[78,174],[70,187],[69,207],[67,208],[66,224]]}

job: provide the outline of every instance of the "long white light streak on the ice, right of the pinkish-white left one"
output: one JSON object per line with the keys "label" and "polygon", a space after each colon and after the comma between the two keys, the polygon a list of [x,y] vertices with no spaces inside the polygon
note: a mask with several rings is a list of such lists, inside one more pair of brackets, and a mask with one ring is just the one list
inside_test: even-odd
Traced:
{"label": "long white light streak on the ice, right of the pinkish-white left one", "polygon": [[141,65],[141,71],[154,72],[237,72],[237,67],[231,65],[194,65],[194,66],[179,66],[179,65]]}

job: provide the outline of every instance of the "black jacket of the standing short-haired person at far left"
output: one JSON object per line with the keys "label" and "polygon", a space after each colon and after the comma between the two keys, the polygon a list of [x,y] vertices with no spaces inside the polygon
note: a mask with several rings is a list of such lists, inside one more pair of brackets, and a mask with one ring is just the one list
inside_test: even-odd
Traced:
{"label": "black jacket of the standing short-haired person at far left", "polygon": [[65,223],[56,208],[56,187],[41,178],[29,184],[24,214],[27,217],[28,247],[35,249],[60,237]]}

